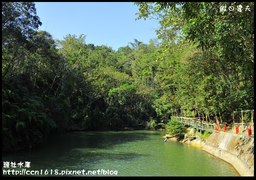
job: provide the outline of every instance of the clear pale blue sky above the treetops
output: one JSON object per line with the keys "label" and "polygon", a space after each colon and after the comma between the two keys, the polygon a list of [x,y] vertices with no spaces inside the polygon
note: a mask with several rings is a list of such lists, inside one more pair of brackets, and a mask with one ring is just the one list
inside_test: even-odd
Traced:
{"label": "clear pale blue sky above the treetops", "polygon": [[156,38],[159,27],[153,19],[139,19],[134,15],[138,7],[132,2],[35,2],[37,15],[54,38],[67,34],[86,36],[86,44],[107,45],[118,50],[133,39],[148,43]]}

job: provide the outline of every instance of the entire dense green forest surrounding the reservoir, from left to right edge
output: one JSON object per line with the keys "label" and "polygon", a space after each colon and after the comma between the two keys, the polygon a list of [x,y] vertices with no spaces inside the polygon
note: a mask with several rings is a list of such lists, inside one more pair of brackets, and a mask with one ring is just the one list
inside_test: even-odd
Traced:
{"label": "entire dense green forest surrounding the reservoir, from left to right edge", "polygon": [[38,30],[33,2],[2,3],[2,152],[51,131],[164,128],[191,108],[230,122],[254,109],[254,3],[134,4],[159,39],[114,51]]}

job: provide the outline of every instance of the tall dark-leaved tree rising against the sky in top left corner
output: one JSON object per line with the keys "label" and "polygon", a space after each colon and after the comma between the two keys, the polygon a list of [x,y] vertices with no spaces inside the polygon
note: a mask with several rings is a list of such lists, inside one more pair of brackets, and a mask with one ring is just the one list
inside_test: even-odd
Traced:
{"label": "tall dark-leaved tree rising against the sky in top left corner", "polygon": [[2,3],[2,75],[12,76],[18,69],[30,36],[41,24],[33,2]]}

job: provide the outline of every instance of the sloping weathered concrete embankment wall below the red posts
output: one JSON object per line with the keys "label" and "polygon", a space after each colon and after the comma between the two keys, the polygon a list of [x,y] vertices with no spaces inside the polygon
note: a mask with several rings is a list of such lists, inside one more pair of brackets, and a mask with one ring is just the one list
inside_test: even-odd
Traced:
{"label": "sloping weathered concrete embankment wall below the red posts", "polygon": [[254,176],[254,138],[215,131],[203,150],[232,164],[241,176]]}

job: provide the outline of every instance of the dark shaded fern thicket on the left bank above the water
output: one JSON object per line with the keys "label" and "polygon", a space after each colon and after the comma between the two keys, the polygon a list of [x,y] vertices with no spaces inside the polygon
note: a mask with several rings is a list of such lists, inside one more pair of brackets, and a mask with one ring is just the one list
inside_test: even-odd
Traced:
{"label": "dark shaded fern thicket on the left bank above the water", "polygon": [[37,146],[55,126],[35,92],[17,77],[2,78],[2,152]]}

